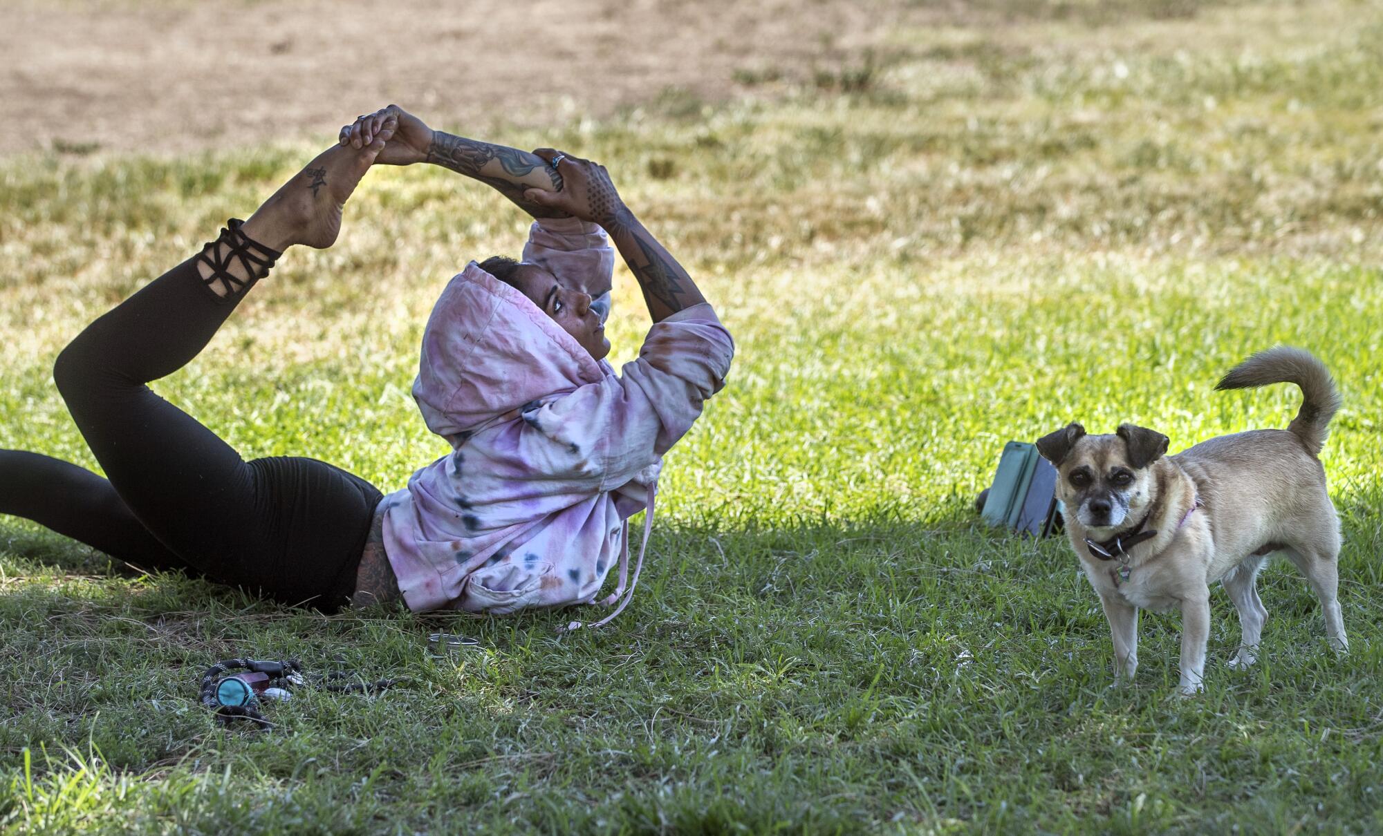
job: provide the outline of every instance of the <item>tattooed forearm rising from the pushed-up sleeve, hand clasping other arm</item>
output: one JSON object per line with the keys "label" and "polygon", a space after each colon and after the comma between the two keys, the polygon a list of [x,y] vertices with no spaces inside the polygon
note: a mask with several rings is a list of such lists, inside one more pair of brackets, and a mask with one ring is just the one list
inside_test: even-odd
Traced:
{"label": "tattooed forearm rising from the pushed-up sleeve, hand clasping other arm", "polygon": [[[557,152],[539,148],[534,152],[550,160]],[[528,189],[527,200],[584,221],[600,224],[639,281],[649,315],[662,322],[672,314],[705,301],[701,290],[653,234],[629,211],[620,192],[610,182],[604,166],[566,156],[560,164],[561,191]]]}

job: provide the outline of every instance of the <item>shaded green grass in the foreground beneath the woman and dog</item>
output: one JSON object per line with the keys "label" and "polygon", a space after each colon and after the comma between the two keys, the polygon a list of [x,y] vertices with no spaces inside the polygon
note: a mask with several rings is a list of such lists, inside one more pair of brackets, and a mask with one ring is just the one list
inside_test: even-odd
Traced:
{"label": "shaded green grass in the foreground beneath the woman and dog", "polygon": [[[1375,562],[1377,499],[1339,499],[1347,579]],[[1245,795],[1342,806],[1358,781],[1299,785],[1278,767],[1317,774],[1328,760],[1355,774],[1366,768],[1359,737],[1377,739],[1376,706],[1358,698],[1380,666],[1383,619],[1368,585],[1343,587],[1359,649],[1342,662],[1325,649],[1306,583],[1277,564],[1263,583],[1271,647],[1246,674],[1221,663],[1238,626],[1216,593],[1209,691],[1182,705],[1169,701],[1180,618],[1145,618],[1138,681],[1111,691],[1108,629],[1065,540],[992,532],[963,513],[932,526],[664,522],[631,608],[564,636],[559,625],[597,611],[325,618],[178,575],[116,575],[102,555],[24,525],[0,526],[0,543],[11,567],[0,596],[3,760],[37,743],[91,743],[115,770],[158,771],[154,788],[169,764],[169,786],[234,766],[272,801],[284,788],[307,792],[303,764],[329,752],[311,797],[405,821],[459,810],[538,829],[603,818],[719,830],[902,810],[1069,829],[1162,804],[1160,824],[1191,826]],[[483,649],[429,662],[437,629]],[[310,670],[340,659],[418,687],[304,695],[275,709],[290,734],[231,734],[192,698],[202,666],[239,654],[297,656]],[[1326,739],[1321,727],[1343,731]],[[360,782],[380,764],[366,792]],[[1217,778],[1196,783],[1206,771]],[[519,792],[530,801],[502,800]],[[1084,813],[1070,818],[1073,807]]]}

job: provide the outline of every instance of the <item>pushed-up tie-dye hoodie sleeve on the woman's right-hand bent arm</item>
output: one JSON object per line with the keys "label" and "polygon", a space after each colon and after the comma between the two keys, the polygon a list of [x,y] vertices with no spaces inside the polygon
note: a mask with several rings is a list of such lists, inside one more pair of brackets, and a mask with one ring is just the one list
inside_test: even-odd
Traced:
{"label": "pushed-up tie-dye hoodie sleeve on the woman's right-hand bent arm", "polygon": [[618,377],[526,412],[526,446],[561,449],[582,460],[592,486],[620,488],[686,435],[725,386],[733,357],[734,341],[709,304],[678,311],[649,330]]}

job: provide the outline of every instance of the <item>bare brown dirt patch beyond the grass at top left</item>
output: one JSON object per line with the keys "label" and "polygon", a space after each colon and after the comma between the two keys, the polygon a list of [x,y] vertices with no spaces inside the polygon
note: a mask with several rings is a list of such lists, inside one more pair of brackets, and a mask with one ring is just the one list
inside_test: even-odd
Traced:
{"label": "bare brown dirt patch beyond the grass at top left", "polygon": [[[180,152],[332,134],[389,102],[436,124],[552,124],[675,88],[809,77],[903,1],[0,0],[8,151]],[[739,72],[737,72],[739,70]]]}

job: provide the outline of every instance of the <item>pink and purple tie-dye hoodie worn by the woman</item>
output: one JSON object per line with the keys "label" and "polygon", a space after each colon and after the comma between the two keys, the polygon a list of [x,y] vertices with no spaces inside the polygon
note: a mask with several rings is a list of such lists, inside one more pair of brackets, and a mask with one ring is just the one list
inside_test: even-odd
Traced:
{"label": "pink and purple tie-dye hoodie worn by the woman", "polygon": [[[603,296],[614,253],[574,218],[534,224],[524,260]],[[721,390],[734,345],[708,304],[656,323],[615,374],[474,263],[423,333],[414,398],[452,452],[384,497],[384,549],[414,611],[591,602],[661,456]]]}

